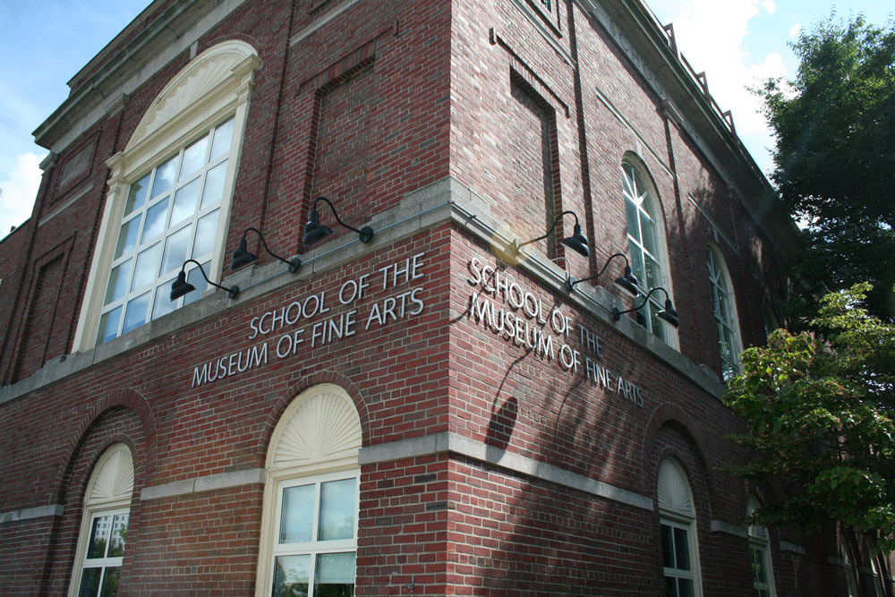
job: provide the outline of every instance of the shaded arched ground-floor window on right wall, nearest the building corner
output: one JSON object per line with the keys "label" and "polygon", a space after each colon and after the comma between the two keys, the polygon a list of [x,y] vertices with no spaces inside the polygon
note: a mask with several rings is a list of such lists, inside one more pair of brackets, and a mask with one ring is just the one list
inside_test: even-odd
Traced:
{"label": "shaded arched ground-floor window on right wall, nearest the building corner", "polygon": [[659,470],[659,516],[665,594],[699,597],[699,550],[696,546],[696,511],[690,484],[676,460],[669,458]]}

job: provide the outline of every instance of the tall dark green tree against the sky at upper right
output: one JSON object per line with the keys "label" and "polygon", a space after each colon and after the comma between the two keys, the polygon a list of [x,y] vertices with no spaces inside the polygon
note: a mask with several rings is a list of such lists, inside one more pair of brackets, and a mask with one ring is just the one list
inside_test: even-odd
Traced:
{"label": "tall dark green tree against the sky at upper right", "polygon": [[776,137],[771,181],[805,222],[795,273],[808,295],[870,280],[868,309],[895,316],[895,21],[858,16],[803,31],[794,81],[758,90]]}

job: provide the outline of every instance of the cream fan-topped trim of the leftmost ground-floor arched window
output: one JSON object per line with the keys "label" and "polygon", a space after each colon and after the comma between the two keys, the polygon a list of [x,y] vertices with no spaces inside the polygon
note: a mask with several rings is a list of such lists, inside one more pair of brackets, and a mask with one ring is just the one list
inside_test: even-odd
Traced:
{"label": "cream fan-topped trim of the leftmost ground-floor arched window", "polygon": [[[125,453],[126,456],[124,456]],[[117,471],[107,469],[107,465],[110,465],[112,459],[118,455],[121,455],[118,462],[123,463],[124,467]],[[127,469],[126,466],[130,468]],[[114,483],[114,488],[98,488],[100,477],[110,474],[120,482]],[[77,597],[81,591],[81,575],[84,572],[87,544],[90,542],[90,532],[93,527],[91,523],[94,517],[98,514],[115,515],[130,512],[132,492],[133,459],[131,450],[126,444],[114,444],[99,457],[97,465],[90,475],[90,482],[87,483],[87,490],[84,492],[84,511],[81,516],[81,530],[78,534],[78,548],[74,554],[72,582],[68,587],[69,597]],[[127,549],[126,542],[124,549]]]}

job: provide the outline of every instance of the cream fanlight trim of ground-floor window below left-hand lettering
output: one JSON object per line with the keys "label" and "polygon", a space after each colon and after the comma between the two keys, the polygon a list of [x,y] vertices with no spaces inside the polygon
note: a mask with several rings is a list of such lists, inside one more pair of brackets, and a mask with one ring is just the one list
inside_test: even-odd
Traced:
{"label": "cream fanlight trim of ground-floor window below left-hand lettering", "polygon": [[[328,397],[328,405],[320,397]],[[317,404],[314,404],[316,400]],[[305,405],[313,405],[311,416],[298,417]],[[333,416],[330,417],[330,414]],[[323,448],[328,432],[321,431],[318,438],[307,441],[310,446],[308,457],[283,458],[278,454],[285,436],[297,434],[293,422],[304,424],[305,429],[322,429],[327,425],[320,422],[339,419],[345,430],[345,441],[340,446]],[[326,549],[337,551],[357,550],[357,525],[360,519],[360,467],[357,455],[361,448],[360,418],[351,398],[344,389],[335,384],[320,384],[305,390],[296,397],[280,417],[276,429],[271,434],[268,456],[265,462],[264,502],[261,508],[261,536],[258,556],[258,581],[255,584],[256,597],[268,597],[273,585],[274,563],[282,549],[277,547],[277,533],[280,522],[281,496],[286,487],[331,479],[357,478],[358,497],[355,501],[354,539],[347,542],[327,542]],[[310,553],[310,551],[308,552]]]}

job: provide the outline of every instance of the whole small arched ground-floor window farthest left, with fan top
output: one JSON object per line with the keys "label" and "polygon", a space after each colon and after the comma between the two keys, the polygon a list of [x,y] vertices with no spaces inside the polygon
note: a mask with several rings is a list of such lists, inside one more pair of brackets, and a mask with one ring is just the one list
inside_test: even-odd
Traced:
{"label": "whole small arched ground-floor window farthest left, with fan top", "polygon": [[117,593],[132,492],[131,451],[124,444],[115,444],[100,456],[84,494],[70,597],[112,597]]}

